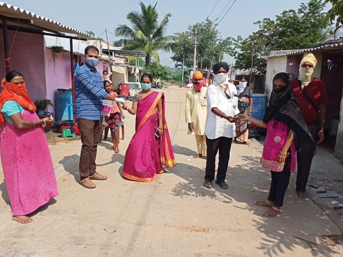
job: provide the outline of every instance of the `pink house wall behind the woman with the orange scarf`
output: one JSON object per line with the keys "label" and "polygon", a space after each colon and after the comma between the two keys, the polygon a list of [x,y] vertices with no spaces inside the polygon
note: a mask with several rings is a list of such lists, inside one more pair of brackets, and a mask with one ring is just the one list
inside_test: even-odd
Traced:
{"label": "pink house wall behind the woman with the orange scarf", "polygon": [[[14,31],[8,31],[9,47],[13,42]],[[0,77],[6,75],[3,37],[0,29]],[[43,35],[17,32],[11,51],[11,70],[17,70],[25,77],[26,88],[33,100],[46,96],[44,68]]]}

